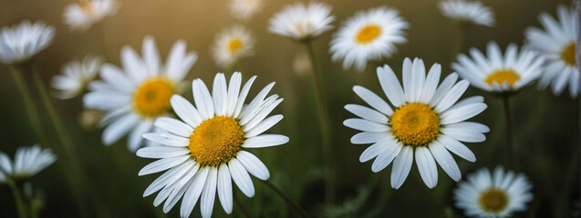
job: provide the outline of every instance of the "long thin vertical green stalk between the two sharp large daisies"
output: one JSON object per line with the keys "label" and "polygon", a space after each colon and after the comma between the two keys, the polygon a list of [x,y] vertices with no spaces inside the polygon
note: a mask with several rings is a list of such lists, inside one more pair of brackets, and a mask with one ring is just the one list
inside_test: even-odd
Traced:
{"label": "long thin vertical green stalk between the two sharp large daisies", "polygon": [[323,158],[325,159],[325,201],[327,203],[332,203],[335,199],[335,170],[333,160],[333,150],[331,149],[331,140],[329,135],[329,124],[328,124],[328,114],[327,114],[327,104],[325,104],[325,98],[323,94],[323,87],[321,85],[320,73],[316,67],[315,50],[311,41],[307,41],[306,49],[308,50],[308,55],[311,60],[311,66],[313,66],[313,84],[315,87],[316,96],[316,108],[318,112],[319,125],[321,128],[321,142],[323,145]]}

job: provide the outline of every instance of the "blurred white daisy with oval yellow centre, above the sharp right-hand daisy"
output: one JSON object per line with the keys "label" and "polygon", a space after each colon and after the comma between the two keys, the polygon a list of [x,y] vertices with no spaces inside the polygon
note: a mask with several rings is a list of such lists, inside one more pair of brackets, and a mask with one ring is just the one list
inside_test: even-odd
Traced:
{"label": "blurred white daisy with oval yellow centre, above the sharp right-hand daisy", "polygon": [[343,59],[343,68],[355,64],[358,71],[363,71],[368,61],[394,54],[395,44],[406,42],[403,30],[408,27],[395,9],[379,7],[358,12],[333,35],[329,51],[333,61]]}

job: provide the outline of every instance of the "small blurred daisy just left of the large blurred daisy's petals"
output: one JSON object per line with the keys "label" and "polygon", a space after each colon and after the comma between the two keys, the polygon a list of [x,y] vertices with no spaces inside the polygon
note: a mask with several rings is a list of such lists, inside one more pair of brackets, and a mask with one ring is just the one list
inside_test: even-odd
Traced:
{"label": "small blurred daisy just left of the large blurred daisy's petals", "polygon": [[86,56],[83,62],[69,62],[63,67],[62,74],[52,78],[51,84],[57,90],[54,95],[60,99],[69,99],[82,93],[88,82],[99,73],[101,64],[101,58],[94,56]]}

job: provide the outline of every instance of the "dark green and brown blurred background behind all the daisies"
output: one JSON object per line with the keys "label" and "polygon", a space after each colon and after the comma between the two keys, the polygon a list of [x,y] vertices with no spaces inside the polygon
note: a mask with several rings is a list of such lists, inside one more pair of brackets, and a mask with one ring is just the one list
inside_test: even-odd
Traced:
{"label": "dark green and brown blurred background behind all the daisies", "polygon": [[[451,73],[450,62],[456,27],[443,17],[435,0],[359,0],[320,1],[332,5],[336,28],[315,41],[316,59],[323,73],[323,85],[330,108],[332,145],[337,171],[337,199],[334,206],[323,204],[323,154],[319,145],[316,104],[309,76],[293,70],[297,54],[305,47],[292,40],[267,32],[268,19],[283,5],[294,1],[265,1],[265,7],[246,22],[236,21],[227,8],[228,1],[199,0],[120,0],[117,15],[106,17],[85,33],[71,33],[63,24],[62,14],[73,1],[0,0],[0,26],[15,25],[22,20],[42,20],[54,25],[57,35],[46,51],[38,54],[36,69],[48,84],[60,74],[63,64],[82,59],[86,54],[107,56],[108,62],[119,65],[119,51],[124,45],[141,50],[144,36],[152,35],[165,60],[171,45],[178,39],[188,43],[189,51],[199,54],[188,79],[202,78],[211,86],[213,75],[233,69],[221,69],[213,64],[210,45],[214,36],[225,27],[242,24],[256,37],[254,56],[245,58],[236,70],[243,72],[244,80],[257,74],[251,94],[261,86],[277,82],[273,93],[285,101],[275,113],[285,119],[271,133],[286,134],[290,143],[265,149],[256,154],[269,168],[271,181],[289,193],[313,216],[321,217],[462,217],[462,211],[453,207],[451,190],[456,183],[439,169],[439,183],[433,190],[421,181],[417,167],[399,190],[389,185],[391,167],[372,173],[372,162],[359,163],[358,156],[367,145],[353,145],[349,138],[357,131],[343,126],[343,120],[353,117],[343,109],[345,104],[364,104],[351,91],[354,84],[363,85],[381,94],[374,68],[389,64],[400,74],[405,57],[420,57],[426,65],[442,64],[444,74]],[[484,49],[487,42],[497,41],[503,48],[509,43],[523,45],[524,29],[539,26],[538,15],[548,12],[555,16],[556,5],[570,5],[567,0],[485,0],[493,8],[494,27],[473,26],[466,35],[462,52],[470,47]],[[392,58],[369,63],[365,72],[344,70],[332,63],[328,42],[337,26],[356,11],[387,5],[399,10],[410,23],[405,33],[408,42],[399,45]],[[493,168],[503,164],[506,151],[506,127],[502,101],[492,94],[469,88],[464,97],[483,95],[489,105],[482,114],[472,119],[491,128],[487,140],[481,144],[467,144],[476,154],[476,163],[455,157],[466,174],[481,167]],[[192,100],[191,92],[184,94]],[[251,95],[252,96],[252,95]],[[16,148],[36,144],[36,136],[28,122],[21,95],[4,65],[0,65],[0,151],[14,156]],[[83,111],[81,97],[61,101],[54,99],[58,113],[64,119],[68,133],[73,137],[82,161],[80,167],[88,174],[86,194],[80,203],[73,196],[67,180],[67,156],[62,146],[53,146],[59,159],[32,179],[35,190],[45,198],[42,217],[177,217],[179,206],[164,215],[161,208],[152,206],[154,195],[143,198],[145,188],[158,174],[138,177],[140,168],[150,160],[128,152],[125,139],[106,147],[100,143],[100,130],[81,127],[78,116]],[[534,184],[534,202],[529,210],[516,213],[517,217],[578,217],[579,203],[579,107],[568,94],[554,96],[548,90],[539,91],[534,85],[515,95],[511,104],[514,114],[516,154],[520,159],[519,171]],[[45,119],[47,124],[48,119]],[[49,128],[50,125],[47,125]],[[52,137],[56,142],[56,137]],[[248,199],[237,188],[234,193],[244,207],[256,217],[294,217],[275,193],[264,183],[254,179],[256,194]],[[242,217],[240,205],[234,205],[233,216]],[[0,186],[0,217],[16,217],[12,194],[7,186]],[[214,203],[214,216],[226,216],[220,203]],[[196,206],[192,216],[199,216]]]}

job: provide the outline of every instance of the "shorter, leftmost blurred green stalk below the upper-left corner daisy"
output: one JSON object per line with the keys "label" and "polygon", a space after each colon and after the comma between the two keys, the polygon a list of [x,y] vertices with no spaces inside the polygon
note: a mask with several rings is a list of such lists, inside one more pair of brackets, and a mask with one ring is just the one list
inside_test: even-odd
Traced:
{"label": "shorter, leftmost blurred green stalk below the upper-left corner daisy", "polygon": [[45,133],[45,129],[40,119],[40,115],[38,114],[38,109],[36,108],[36,104],[33,100],[32,94],[30,94],[30,91],[26,87],[24,70],[21,68],[21,66],[14,65],[9,65],[8,69],[10,69],[12,77],[14,77],[18,91],[20,92],[20,94],[22,94],[22,98],[26,108],[26,114],[28,114],[28,120],[30,121],[30,124],[32,124],[32,128],[35,130],[35,133],[38,136],[38,140],[40,140],[41,143],[44,144],[45,146],[48,146],[49,142],[47,139],[47,134]]}

